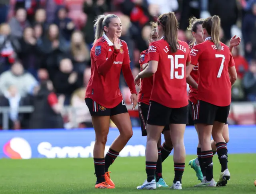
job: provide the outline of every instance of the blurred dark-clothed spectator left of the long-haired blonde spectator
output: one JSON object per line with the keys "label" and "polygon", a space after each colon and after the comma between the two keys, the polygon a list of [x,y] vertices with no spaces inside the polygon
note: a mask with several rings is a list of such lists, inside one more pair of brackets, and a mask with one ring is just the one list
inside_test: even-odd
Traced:
{"label": "blurred dark-clothed spectator left of the long-haired blonde spectator", "polygon": [[55,74],[58,71],[60,59],[70,50],[69,45],[66,44],[66,41],[59,33],[58,26],[51,24],[42,40],[38,40],[38,46],[44,58],[42,68],[48,70],[52,80],[56,77]]}

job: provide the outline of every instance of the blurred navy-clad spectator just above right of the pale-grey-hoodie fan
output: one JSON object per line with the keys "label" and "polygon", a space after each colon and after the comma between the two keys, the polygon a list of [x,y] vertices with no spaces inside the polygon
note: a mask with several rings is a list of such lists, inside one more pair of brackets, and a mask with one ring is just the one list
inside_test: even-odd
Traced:
{"label": "blurred navy-clad spectator just above right of the pale-grey-hoodie fan", "polygon": [[40,67],[40,53],[36,45],[34,30],[31,27],[25,28],[23,37],[20,39],[18,58],[22,61],[23,67],[37,77],[37,70]]}

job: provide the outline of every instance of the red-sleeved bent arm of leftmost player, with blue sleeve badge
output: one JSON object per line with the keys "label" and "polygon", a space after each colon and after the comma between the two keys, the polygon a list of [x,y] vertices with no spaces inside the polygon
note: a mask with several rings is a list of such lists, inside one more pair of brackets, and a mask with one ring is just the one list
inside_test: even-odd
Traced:
{"label": "red-sleeved bent arm of leftmost player, with blue sleeve badge", "polygon": [[114,50],[111,56],[106,60],[108,48],[103,42],[98,42],[95,46],[94,62],[97,66],[98,73],[105,75],[112,67],[120,50]]}

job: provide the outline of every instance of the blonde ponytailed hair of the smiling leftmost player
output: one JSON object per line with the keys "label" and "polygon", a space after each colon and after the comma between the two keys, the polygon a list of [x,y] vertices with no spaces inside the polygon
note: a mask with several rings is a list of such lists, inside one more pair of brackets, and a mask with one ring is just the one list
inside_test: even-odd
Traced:
{"label": "blonde ponytailed hair of the smiling leftmost player", "polygon": [[115,14],[108,14],[108,15],[99,15],[96,17],[96,20],[94,20],[95,24],[93,25],[94,30],[95,30],[95,34],[94,34],[94,42],[93,44],[95,44],[95,42],[103,36],[103,32],[104,32],[104,26],[109,25],[110,23],[110,19],[112,18],[118,18],[117,15]]}

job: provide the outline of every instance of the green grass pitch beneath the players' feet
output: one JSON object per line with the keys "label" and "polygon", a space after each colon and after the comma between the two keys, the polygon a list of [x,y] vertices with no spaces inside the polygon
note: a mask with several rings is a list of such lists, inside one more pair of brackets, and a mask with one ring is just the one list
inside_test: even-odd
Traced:
{"label": "green grass pitch beneath the players' feet", "polygon": [[[256,154],[230,154],[229,170],[231,180],[225,187],[194,188],[199,181],[186,157],[186,168],[182,178],[182,190],[158,188],[157,190],[136,190],[146,179],[145,158],[117,158],[110,166],[114,190],[94,189],[96,177],[92,158],[0,160],[0,194],[256,194]],[[214,156],[214,178],[220,173],[218,157]],[[174,169],[172,156],[163,163],[163,176],[170,186]]]}

